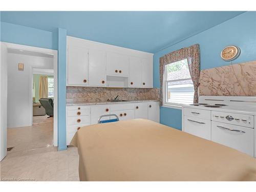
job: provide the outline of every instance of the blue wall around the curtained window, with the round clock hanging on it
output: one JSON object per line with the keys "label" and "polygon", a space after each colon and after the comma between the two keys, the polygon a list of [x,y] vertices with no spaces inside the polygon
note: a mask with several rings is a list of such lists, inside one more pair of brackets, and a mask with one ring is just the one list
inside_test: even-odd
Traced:
{"label": "blue wall around the curtained window, with the round clock hanging on it", "polygon": [[[200,44],[201,70],[225,65],[230,62],[220,57],[221,50],[228,45],[241,49],[240,57],[233,63],[256,60],[256,12],[246,12],[226,22],[187,38],[154,54],[154,87],[160,87],[159,58],[183,47]],[[160,108],[160,122],[181,129],[181,110]]]}

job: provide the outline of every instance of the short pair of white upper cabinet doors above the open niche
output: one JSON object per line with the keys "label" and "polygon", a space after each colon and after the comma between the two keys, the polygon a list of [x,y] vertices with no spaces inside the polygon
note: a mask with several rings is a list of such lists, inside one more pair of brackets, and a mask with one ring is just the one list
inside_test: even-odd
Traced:
{"label": "short pair of white upper cabinet doors above the open niche", "polygon": [[129,57],[117,53],[106,53],[106,74],[128,76]]}

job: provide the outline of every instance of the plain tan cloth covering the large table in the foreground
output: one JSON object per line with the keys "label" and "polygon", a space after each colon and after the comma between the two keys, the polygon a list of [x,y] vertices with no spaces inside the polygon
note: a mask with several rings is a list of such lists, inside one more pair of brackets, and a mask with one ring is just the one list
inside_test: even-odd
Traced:
{"label": "plain tan cloth covering the large table in the foreground", "polygon": [[143,119],[84,126],[80,181],[256,181],[256,160],[221,144]]}

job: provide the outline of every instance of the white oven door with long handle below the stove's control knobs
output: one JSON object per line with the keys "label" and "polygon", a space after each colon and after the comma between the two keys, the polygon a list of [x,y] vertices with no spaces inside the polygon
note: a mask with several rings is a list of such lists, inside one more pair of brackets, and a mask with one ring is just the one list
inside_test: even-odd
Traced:
{"label": "white oven door with long handle below the stove's control knobs", "polygon": [[254,129],[211,121],[211,140],[254,156]]}

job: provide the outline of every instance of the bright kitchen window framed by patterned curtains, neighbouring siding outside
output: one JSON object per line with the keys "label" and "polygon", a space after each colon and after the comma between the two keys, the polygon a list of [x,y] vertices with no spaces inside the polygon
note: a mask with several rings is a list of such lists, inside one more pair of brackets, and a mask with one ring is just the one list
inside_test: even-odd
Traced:
{"label": "bright kitchen window framed by patterned curtains, neighbouring siding outside", "polygon": [[194,86],[187,59],[165,65],[164,104],[190,104],[194,100]]}

